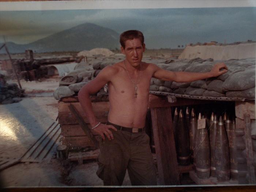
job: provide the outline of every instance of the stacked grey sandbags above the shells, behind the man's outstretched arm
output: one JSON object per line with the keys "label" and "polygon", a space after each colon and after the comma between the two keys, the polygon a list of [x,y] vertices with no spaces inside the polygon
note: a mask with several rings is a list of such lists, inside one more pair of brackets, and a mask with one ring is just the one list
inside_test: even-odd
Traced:
{"label": "stacked grey sandbags above the shells, behind the man's outstretched arm", "polygon": [[[219,62],[221,61],[196,58],[189,60],[188,63],[174,62],[169,67],[164,64],[158,66],[169,71],[208,72]],[[255,98],[255,58],[229,60],[224,63],[228,67],[228,72],[217,78],[191,83],[167,82],[152,78],[150,91],[205,97]]]}

